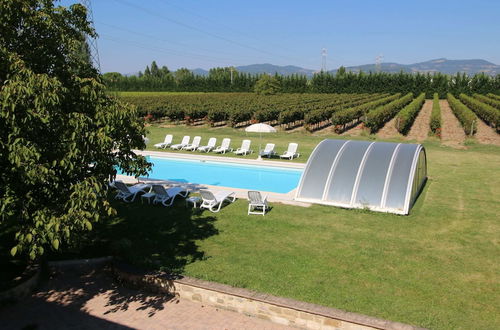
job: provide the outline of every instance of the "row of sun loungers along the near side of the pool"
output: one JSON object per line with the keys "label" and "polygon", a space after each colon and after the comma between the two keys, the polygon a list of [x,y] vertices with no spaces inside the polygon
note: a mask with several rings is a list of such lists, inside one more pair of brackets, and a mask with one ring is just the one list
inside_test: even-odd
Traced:
{"label": "row of sun loungers along the near side of the pool", "polygon": [[[138,183],[133,186],[127,186],[122,181],[116,180],[111,183],[117,191],[116,199],[120,199],[127,203],[132,203],[136,196],[139,194],[141,198],[147,198],[149,201],[153,200],[153,204],[162,204],[164,206],[172,206],[177,196],[186,198],[189,191],[183,187],[168,187],[161,184],[144,184]],[[230,203],[236,200],[236,194],[232,191],[217,191],[213,192],[206,189],[200,190],[202,203],[200,208],[208,209],[211,212],[219,212],[222,204],[225,201]],[[265,215],[269,209],[267,203],[267,196],[262,198],[260,192],[248,192],[248,214],[261,214]]]}

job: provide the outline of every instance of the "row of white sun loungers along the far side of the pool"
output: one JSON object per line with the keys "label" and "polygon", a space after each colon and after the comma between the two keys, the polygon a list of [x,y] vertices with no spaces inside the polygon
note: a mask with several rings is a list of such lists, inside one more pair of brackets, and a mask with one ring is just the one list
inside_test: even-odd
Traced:
{"label": "row of white sun loungers along the far side of the pool", "polygon": [[[253,150],[250,149],[252,141],[250,140],[243,140],[241,143],[241,147],[233,151],[233,148],[231,148],[231,139],[229,138],[224,138],[222,139],[222,143],[219,146],[217,145],[217,139],[214,137],[211,137],[208,140],[208,143],[204,146],[200,146],[201,144],[201,136],[195,136],[193,138],[192,143],[189,143],[191,137],[186,135],[182,138],[181,143],[178,144],[172,144],[173,136],[172,134],[167,134],[165,136],[165,140],[162,143],[157,143],[154,146],[156,148],[161,148],[161,149],[166,149],[169,148],[172,150],[187,150],[187,151],[199,151],[199,152],[214,152],[214,153],[221,153],[225,154],[226,152],[233,152],[236,155],[248,155],[253,153]],[[297,152],[298,149],[298,144],[297,143],[290,143],[288,144],[288,149],[285,151],[282,155],[279,155],[280,158],[285,158],[285,159],[293,159],[295,157],[299,157],[300,154]],[[274,143],[268,143],[266,144],[264,150],[261,150],[259,155],[261,157],[268,157],[271,158],[272,156],[277,156],[277,153],[274,151],[275,144]]]}

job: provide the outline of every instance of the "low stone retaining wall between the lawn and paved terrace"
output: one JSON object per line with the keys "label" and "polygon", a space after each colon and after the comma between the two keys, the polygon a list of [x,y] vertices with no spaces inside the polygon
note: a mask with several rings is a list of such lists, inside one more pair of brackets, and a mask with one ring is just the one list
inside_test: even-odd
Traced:
{"label": "low stone retaining wall between the lawn and paved terrace", "polygon": [[113,272],[119,281],[135,288],[175,295],[287,326],[306,329],[422,329],[190,277],[145,275],[124,265],[114,265]]}

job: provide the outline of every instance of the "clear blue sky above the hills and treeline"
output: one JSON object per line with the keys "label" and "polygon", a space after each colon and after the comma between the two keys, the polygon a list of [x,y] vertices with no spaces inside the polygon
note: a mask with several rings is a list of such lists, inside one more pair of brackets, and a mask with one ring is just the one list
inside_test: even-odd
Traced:
{"label": "clear blue sky above the hills and treeline", "polygon": [[[64,0],[68,5],[75,1]],[[500,64],[500,1],[94,0],[103,72],[272,63],[327,69],[481,58]]]}

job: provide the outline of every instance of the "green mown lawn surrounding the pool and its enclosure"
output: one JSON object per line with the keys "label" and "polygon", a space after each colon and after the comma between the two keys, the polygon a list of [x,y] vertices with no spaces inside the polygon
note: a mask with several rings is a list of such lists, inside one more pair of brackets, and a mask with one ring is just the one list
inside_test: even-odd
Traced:
{"label": "green mown lawn surrounding the pool and its enclosure", "polygon": [[[150,127],[231,137],[227,128]],[[306,161],[324,136],[265,136],[279,151],[300,143]],[[258,141],[252,138],[254,142]],[[429,181],[409,216],[274,203],[247,216],[239,200],[220,213],[115,203],[96,227],[99,254],[433,329],[500,328],[500,148],[427,142]],[[252,156],[253,157],[253,156]],[[91,253],[91,252],[86,252]],[[94,253],[96,253],[94,251]]]}

